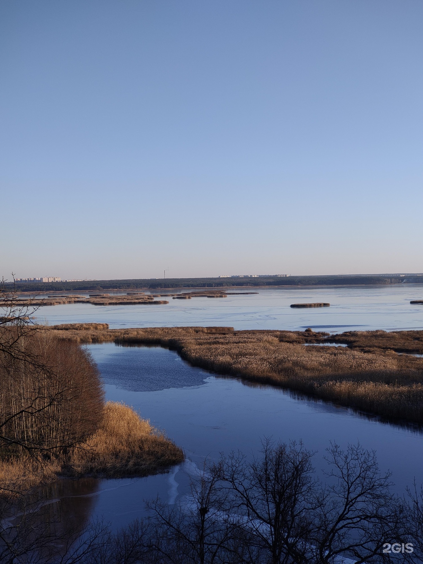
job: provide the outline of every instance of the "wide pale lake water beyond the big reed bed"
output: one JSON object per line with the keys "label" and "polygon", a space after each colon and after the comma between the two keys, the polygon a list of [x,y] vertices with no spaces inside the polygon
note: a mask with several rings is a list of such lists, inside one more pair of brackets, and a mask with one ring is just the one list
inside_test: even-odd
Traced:
{"label": "wide pale lake water beyond the big reed bed", "polygon": [[[182,291],[186,290],[171,290],[174,293]],[[334,333],[354,329],[423,329],[423,306],[409,303],[412,299],[423,299],[422,284],[349,288],[228,288],[227,291],[258,293],[228,295],[221,299],[180,300],[169,297],[165,298],[169,304],[161,306],[94,306],[89,303],[45,306],[39,308],[36,316],[38,321],[47,321],[50,325],[95,321],[109,323],[112,329],[190,325],[292,331],[312,327]],[[329,302],[331,307],[289,307],[291,303],[298,302]]]}

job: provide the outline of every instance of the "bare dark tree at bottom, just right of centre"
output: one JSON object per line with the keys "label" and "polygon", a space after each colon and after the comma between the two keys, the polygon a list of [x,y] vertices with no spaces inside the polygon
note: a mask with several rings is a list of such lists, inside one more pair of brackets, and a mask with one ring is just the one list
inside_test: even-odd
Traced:
{"label": "bare dark tree at bottom, just right of centre", "polygon": [[222,479],[251,533],[250,546],[265,552],[271,562],[304,562],[318,507],[313,453],[301,443],[266,439],[261,454],[247,462],[232,453],[222,461]]}

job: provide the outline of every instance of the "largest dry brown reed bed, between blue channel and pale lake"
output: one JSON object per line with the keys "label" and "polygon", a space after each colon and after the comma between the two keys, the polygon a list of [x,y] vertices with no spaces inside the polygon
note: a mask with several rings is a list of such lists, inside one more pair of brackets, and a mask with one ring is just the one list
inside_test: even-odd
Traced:
{"label": "largest dry brown reed bed, between blue channel and pale lake", "polygon": [[[151,344],[177,350],[192,365],[331,400],[390,420],[423,423],[423,332],[327,333],[232,328],[58,330],[80,343]],[[54,329],[54,327],[52,328]],[[352,348],[303,346],[349,342]]]}

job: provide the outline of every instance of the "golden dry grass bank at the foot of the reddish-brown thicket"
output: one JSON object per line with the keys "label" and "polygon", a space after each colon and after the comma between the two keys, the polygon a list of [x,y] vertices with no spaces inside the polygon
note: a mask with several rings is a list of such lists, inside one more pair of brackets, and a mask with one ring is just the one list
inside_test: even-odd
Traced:
{"label": "golden dry grass bank at the foot of the reddish-brown thicket", "polygon": [[133,409],[107,402],[99,428],[68,457],[43,464],[26,457],[0,461],[0,487],[12,495],[61,477],[145,477],[183,460],[182,450]]}

